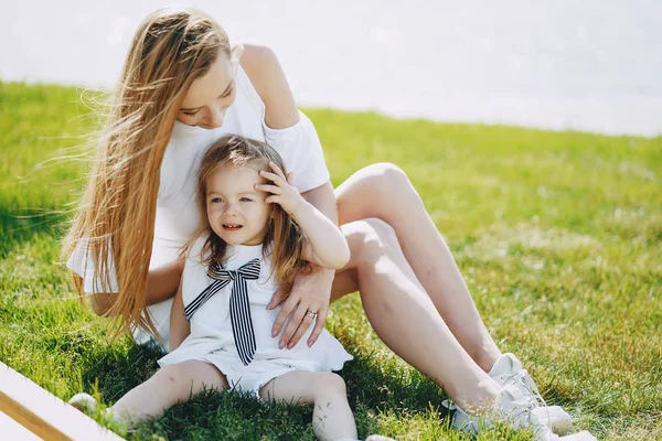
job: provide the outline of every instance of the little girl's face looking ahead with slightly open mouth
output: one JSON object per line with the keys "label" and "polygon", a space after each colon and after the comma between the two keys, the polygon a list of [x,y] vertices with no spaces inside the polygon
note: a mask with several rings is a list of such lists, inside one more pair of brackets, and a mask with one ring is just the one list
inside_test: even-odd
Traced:
{"label": "little girl's face looking ahead with slightly open mouth", "polygon": [[210,226],[229,245],[263,243],[270,208],[267,194],[255,190],[264,184],[258,171],[232,163],[218,165],[206,180],[206,212]]}

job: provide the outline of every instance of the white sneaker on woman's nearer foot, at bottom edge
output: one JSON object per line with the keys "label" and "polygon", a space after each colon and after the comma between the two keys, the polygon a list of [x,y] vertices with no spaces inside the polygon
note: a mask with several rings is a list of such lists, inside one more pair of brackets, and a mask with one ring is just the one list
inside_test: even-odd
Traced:
{"label": "white sneaker on woman's nearer foot, at bottom edge", "polygon": [[[450,410],[455,410],[452,416],[452,427],[466,433],[478,434],[481,428],[489,428],[491,420],[470,416],[461,408],[447,404]],[[533,410],[537,407],[535,399],[523,394],[515,386],[504,386],[499,392],[494,402],[492,418],[506,422],[513,429],[533,429],[536,441],[596,441],[596,438],[587,431],[567,437],[558,437],[552,433],[552,430],[541,422]]]}

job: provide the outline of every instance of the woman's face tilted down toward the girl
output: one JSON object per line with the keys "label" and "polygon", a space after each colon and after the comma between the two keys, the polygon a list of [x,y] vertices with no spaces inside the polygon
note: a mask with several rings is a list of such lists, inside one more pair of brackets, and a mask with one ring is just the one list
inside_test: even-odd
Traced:
{"label": "woman's face tilted down toward the girl", "polygon": [[210,72],[193,82],[177,120],[203,129],[223,126],[225,112],[236,96],[236,72],[237,64],[221,54]]}

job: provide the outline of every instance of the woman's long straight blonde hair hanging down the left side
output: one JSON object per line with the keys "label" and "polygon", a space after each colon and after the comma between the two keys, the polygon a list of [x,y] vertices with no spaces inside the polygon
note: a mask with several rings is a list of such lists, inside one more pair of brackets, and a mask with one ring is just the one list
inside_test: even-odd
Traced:
{"label": "woman's long straight blonde hair hanging down the left side", "polygon": [[[225,31],[194,9],[160,9],[138,28],[104,118],[87,190],[64,238],[68,259],[87,241],[96,280],[110,290],[115,261],[119,293],[106,316],[118,331],[141,326],[159,336],[146,313],[161,161],[191,84],[220,56],[233,57]],[[82,291],[82,278],[74,273]],[[97,288],[98,289],[98,288]]]}

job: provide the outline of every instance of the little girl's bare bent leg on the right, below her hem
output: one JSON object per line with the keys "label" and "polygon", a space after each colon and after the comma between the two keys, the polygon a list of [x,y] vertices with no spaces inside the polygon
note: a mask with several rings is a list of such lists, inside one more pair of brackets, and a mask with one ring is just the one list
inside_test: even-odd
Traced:
{"label": "little girl's bare bent leg on the right, below her hem", "polygon": [[357,437],[345,384],[337,374],[290,372],[263,386],[259,396],[265,401],[313,405],[312,430],[320,440]]}

